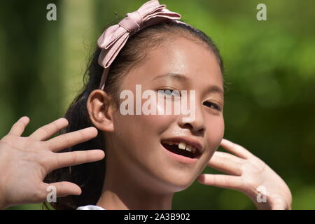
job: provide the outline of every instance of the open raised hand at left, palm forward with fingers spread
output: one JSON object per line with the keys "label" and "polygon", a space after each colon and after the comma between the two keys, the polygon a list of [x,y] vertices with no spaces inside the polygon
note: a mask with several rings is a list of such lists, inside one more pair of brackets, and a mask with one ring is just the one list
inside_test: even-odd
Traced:
{"label": "open raised hand at left, palm forward with fingers spread", "polygon": [[68,125],[65,118],[36,130],[29,137],[21,137],[29,123],[23,117],[0,140],[0,209],[17,204],[38,203],[46,200],[48,186],[55,186],[57,197],[80,195],[74,183],[44,183],[45,176],[54,169],[94,162],[104,158],[102,150],[57,151],[80,144],[97,136],[95,127],[59,135],[47,140]]}

